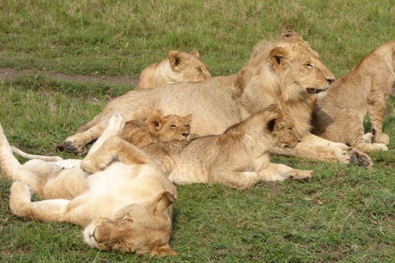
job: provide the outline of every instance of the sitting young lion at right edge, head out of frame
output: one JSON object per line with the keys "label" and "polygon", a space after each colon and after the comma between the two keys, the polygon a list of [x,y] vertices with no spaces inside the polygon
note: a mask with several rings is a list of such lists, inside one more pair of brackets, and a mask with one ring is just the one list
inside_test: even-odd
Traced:
{"label": "sitting young lion at right edge, head out of frame", "polygon": [[[328,95],[313,110],[313,134],[342,142],[363,152],[387,151],[384,112],[395,80],[395,40],[369,53],[345,76],[331,84]],[[364,135],[369,114],[371,133]]]}

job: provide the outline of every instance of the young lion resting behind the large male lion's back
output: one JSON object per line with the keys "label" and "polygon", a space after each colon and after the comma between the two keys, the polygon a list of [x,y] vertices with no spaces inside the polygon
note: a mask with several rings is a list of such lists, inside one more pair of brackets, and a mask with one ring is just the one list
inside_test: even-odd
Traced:
{"label": "young lion resting behind the large male lion's back", "polygon": [[210,77],[196,50],[190,53],[171,51],[166,59],[149,65],[141,72],[135,90],[185,81],[200,82]]}

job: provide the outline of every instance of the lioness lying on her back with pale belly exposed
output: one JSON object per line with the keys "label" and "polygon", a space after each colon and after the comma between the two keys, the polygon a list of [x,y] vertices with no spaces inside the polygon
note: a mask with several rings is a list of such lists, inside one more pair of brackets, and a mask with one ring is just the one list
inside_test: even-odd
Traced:
{"label": "lioness lying on her back with pale belly exposed", "polygon": [[[104,151],[117,147],[112,139],[121,140],[117,136],[124,122],[121,115],[112,117],[82,162],[30,160],[23,165],[13,156],[0,125],[2,176],[14,181],[11,212],[44,222],[79,224],[86,227],[85,242],[101,250],[175,255],[169,240],[176,189],[156,162],[124,142],[127,158],[105,169],[92,165],[91,156],[105,154],[104,145]],[[31,202],[31,191],[44,200]]]}

